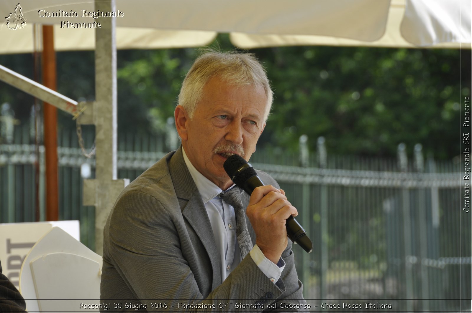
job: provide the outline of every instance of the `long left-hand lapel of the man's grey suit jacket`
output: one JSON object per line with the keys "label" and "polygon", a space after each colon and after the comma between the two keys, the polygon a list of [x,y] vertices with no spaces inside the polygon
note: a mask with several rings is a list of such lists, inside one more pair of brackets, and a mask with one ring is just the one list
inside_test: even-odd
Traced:
{"label": "long left-hand lapel of the man's grey suit jacket", "polygon": [[176,195],[182,210],[182,215],[192,226],[195,233],[202,241],[205,250],[210,257],[213,270],[213,289],[221,284],[221,264],[219,264],[216,241],[211,229],[210,219],[202,201],[202,196],[185,165],[182,146],[176,151],[169,161],[169,172],[174,184]]}

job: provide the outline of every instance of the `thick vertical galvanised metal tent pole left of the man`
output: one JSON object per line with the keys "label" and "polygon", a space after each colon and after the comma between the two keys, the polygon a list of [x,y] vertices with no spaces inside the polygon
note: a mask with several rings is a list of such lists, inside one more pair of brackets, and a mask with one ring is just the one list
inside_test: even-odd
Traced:
{"label": "thick vertical galvanised metal tent pole left of the man", "polygon": [[[95,11],[114,11],[115,0],[95,0]],[[117,180],[117,50],[116,17],[99,17],[95,29],[96,172],[84,180],[84,205],[95,206],[95,252],[103,251],[103,227],[128,179]]]}

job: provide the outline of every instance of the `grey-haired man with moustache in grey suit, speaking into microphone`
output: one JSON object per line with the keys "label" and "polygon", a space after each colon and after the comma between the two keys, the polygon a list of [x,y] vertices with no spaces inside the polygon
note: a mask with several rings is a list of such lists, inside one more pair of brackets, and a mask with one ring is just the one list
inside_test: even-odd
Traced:
{"label": "grey-haired man with moustache in grey suit, speaking into microphone", "polygon": [[[265,186],[249,197],[223,169],[233,154],[249,160],[271,103],[252,55],[207,52],[195,60],[174,114],[182,146],[129,184],[110,212],[101,303],[114,310],[306,310],[285,228],[297,210],[266,173],[258,172]],[[230,192],[240,205],[228,200]],[[241,231],[249,241],[238,242]]]}

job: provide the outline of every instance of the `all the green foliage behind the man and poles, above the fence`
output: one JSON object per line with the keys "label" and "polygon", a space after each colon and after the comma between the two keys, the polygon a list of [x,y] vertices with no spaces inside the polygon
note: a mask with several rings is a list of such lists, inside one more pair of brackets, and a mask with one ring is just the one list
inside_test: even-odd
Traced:
{"label": "all the green foliage behind the man and poles, above the fence", "polygon": [[[235,49],[227,34],[212,46]],[[400,142],[409,151],[421,143],[440,159],[459,153],[461,93],[470,92],[460,90],[459,50],[281,47],[249,52],[264,63],[275,91],[260,147],[296,151],[299,136],[306,134],[312,151],[324,136],[329,154],[395,156]],[[162,132],[197,54],[197,49],[118,51],[118,129]],[[93,52],[57,56],[58,91],[93,99]],[[0,64],[33,78],[31,55],[0,56]],[[33,99],[2,82],[0,92],[16,117],[26,119]],[[74,125],[65,114],[59,123]]]}

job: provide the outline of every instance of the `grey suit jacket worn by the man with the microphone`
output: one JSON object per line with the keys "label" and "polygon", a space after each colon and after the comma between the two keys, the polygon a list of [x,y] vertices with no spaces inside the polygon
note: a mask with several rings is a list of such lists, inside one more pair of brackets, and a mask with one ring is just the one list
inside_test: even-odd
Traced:
{"label": "grey suit jacket worn by the man with the microphone", "polygon": [[[264,183],[278,186],[266,173],[259,175]],[[243,204],[248,203],[245,195]],[[291,247],[288,240],[282,254],[286,266],[276,284],[250,255],[222,282],[210,220],[180,147],[118,196],[104,229],[101,303],[133,311],[143,305],[148,310],[234,311],[236,303],[244,311],[274,306],[296,311],[306,302]],[[227,300],[233,304],[221,307]],[[282,303],[293,307],[287,310]]]}

